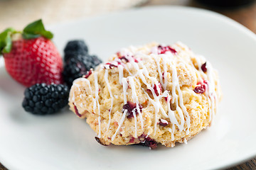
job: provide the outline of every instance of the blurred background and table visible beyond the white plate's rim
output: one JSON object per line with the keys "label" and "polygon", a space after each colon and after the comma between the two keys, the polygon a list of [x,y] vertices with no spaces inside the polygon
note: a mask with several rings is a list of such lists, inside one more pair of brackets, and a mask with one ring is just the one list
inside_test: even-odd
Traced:
{"label": "blurred background and table visible beyond the white plate's rim", "polygon": [[[0,32],[10,26],[21,30],[38,18],[51,25],[156,5],[205,8],[222,13],[256,33],[255,0],[0,0]],[[230,169],[256,169],[256,159]],[[1,163],[0,170],[6,170]]]}

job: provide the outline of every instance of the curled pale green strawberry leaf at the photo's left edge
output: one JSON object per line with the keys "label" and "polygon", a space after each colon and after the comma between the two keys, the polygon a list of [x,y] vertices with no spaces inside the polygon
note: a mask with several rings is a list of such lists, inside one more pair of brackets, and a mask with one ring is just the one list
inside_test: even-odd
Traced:
{"label": "curled pale green strawberry leaf at the photo's left edge", "polygon": [[0,55],[11,52],[11,34],[15,32],[14,28],[7,28],[0,33]]}

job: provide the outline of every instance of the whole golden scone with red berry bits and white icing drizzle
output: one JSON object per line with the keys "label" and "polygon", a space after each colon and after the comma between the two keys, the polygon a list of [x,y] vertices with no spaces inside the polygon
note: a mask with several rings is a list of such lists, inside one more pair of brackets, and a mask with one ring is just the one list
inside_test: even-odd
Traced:
{"label": "whole golden scone with red berry bits and white icing drizzle", "polygon": [[122,49],[76,79],[69,106],[86,118],[102,145],[187,142],[213,120],[217,72],[181,42]]}

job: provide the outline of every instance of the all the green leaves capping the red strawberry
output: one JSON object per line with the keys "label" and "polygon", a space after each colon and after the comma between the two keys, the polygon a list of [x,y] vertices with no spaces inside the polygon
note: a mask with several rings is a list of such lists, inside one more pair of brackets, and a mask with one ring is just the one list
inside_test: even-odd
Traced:
{"label": "all the green leaves capping the red strawberry", "polygon": [[[21,32],[14,30],[14,28],[7,28],[2,33],[0,33],[0,55],[3,53],[11,52],[11,36],[15,33]],[[41,19],[28,24],[28,26],[23,29],[21,35],[24,39],[33,39],[40,36],[43,36],[47,39],[53,38],[53,33],[44,28],[43,21]]]}

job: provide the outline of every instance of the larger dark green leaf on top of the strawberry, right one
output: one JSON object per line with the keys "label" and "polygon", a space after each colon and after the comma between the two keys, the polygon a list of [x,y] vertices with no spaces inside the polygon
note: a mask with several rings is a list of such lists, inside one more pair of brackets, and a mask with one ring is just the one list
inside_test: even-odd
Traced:
{"label": "larger dark green leaf on top of the strawberry, right one", "polygon": [[28,24],[28,26],[26,26],[26,28],[23,29],[23,38],[31,39],[38,38],[39,36],[43,36],[47,39],[53,38],[53,33],[44,28],[41,19]]}

